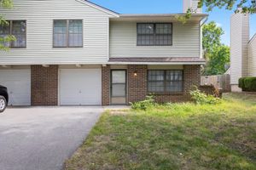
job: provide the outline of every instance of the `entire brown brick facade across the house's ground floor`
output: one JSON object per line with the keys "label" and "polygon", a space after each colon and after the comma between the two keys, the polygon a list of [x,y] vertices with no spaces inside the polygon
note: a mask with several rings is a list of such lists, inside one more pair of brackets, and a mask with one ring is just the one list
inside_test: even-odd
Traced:
{"label": "entire brown brick facade across the house's ground floor", "polygon": [[[127,65],[127,104],[145,99],[147,71],[147,65]],[[199,87],[200,81],[201,66],[184,65],[183,93],[154,94],[155,99],[160,103],[187,101],[189,90]],[[110,85],[110,65],[102,66],[102,105],[110,105]],[[32,105],[58,105],[58,65],[32,65]]]}

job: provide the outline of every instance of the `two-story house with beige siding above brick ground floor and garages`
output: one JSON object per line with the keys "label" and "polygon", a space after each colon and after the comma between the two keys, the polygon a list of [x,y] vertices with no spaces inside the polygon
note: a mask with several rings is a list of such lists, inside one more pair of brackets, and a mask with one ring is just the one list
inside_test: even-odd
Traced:
{"label": "two-story house with beige siding above brick ground floor and garages", "polygon": [[[184,11],[195,8],[184,0]],[[14,0],[0,9],[13,34],[0,52],[10,105],[124,105],[154,93],[189,99],[200,86],[201,25],[207,14],[117,14],[83,0]]]}

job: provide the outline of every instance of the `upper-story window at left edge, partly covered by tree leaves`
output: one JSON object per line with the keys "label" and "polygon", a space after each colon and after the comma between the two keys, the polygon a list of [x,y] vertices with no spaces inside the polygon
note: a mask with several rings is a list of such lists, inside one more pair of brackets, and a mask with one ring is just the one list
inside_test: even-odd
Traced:
{"label": "upper-story window at left edge, partly covered by tree leaves", "polygon": [[26,48],[26,20],[9,20],[9,24],[0,26],[0,37],[15,36],[14,42],[6,42],[5,47]]}

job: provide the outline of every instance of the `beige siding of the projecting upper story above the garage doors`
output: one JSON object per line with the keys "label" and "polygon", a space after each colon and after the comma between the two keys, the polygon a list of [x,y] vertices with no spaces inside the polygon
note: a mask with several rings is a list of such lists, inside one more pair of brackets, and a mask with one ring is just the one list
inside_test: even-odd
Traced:
{"label": "beige siding of the projecting upper story above the garage doors", "polygon": [[[0,9],[7,20],[26,20],[26,48],[0,54],[0,65],[90,64],[108,60],[110,14],[76,0],[14,0]],[[83,48],[53,48],[53,20],[83,20]]]}

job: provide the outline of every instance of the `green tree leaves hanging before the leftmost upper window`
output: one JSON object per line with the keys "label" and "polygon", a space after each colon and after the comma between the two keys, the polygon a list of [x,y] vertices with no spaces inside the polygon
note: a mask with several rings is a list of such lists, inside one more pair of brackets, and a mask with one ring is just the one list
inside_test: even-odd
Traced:
{"label": "green tree leaves hanging before the leftmost upper window", "polygon": [[[12,0],[0,0],[0,8],[13,8]],[[4,26],[9,26],[9,22],[4,20],[3,15],[0,14],[0,33],[3,31]],[[9,42],[15,41],[15,37],[8,35],[6,37],[0,37],[0,51],[6,51],[9,48],[6,46]]]}

